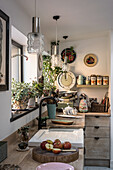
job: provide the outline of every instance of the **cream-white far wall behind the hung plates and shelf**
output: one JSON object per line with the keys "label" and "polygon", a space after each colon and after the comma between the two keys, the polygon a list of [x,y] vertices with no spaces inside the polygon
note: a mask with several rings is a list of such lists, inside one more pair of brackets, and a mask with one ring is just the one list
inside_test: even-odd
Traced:
{"label": "cream-white far wall behind the hung plates and shelf", "polygon": [[[69,70],[75,73],[75,75],[82,74],[84,76],[96,75],[109,75],[109,36],[98,37],[92,39],[84,39],[73,42],[61,43],[60,51],[73,46],[76,52],[76,60],[69,64]],[[84,64],[84,57],[88,53],[93,53],[98,58],[98,63],[94,67],[87,67]],[[98,97],[98,101],[101,101],[105,95],[107,89],[77,89],[79,93],[86,93],[89,97]]]}

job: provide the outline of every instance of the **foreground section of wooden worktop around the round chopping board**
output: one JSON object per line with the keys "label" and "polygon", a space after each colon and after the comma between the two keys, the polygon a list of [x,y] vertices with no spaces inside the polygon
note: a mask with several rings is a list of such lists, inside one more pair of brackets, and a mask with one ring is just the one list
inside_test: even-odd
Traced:
{"label": "foreground section of wooden worktop around the round chopping board", "polygon": [[[37,125],[31,128],[31,137],[36,133]],[[15,140],[9,144],[8,142],[8,157],[1,162],[1,164],[15,164],[21,167],[21,170],[35,170],[38,165],[41,163],[36,162],[32,159],[32,147],[26,152],[19,152],[16,149],[18,148],[18,138],[15,137]],[[74,166],[76,170],[83,170],[84,166],[84,151],[83,148],[79,149],[79,158],[77,161],[69,163]]]}

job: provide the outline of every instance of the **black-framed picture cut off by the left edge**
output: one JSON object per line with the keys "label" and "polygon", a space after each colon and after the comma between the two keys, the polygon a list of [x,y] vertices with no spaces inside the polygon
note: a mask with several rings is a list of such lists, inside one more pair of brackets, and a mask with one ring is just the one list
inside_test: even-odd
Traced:
{"label": "black-framed picture cut off by the left edge", "polygon": [[8,90],[9,17],[0,10],[0,91]]}

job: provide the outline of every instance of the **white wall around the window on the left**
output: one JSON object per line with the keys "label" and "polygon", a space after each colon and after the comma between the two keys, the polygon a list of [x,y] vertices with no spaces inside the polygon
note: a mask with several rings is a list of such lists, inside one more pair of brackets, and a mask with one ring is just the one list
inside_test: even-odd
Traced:
{"label": "white wall around the window on the left", "polygon": [[[13,33],[11,32],[11,26],[12,25],[15,26],[18,30],[20,30],[22,33],[27,35],[27,33],[31,31],[31,18],[26,13],[24,13],[24,10],[22,10],[22,8],[16,3],[15,0],[0,0],[0,9],[4,11],[10,17],[10,37],[13,37],[13,39],[17,41],[18,43],[23,42],[22,45],[25,45],[26,38],[25,37],[23,38],[23,34],[18,37],[17,36],[18,34],[16,32],[15,34],[16,39],[15,39],[14,34],[13,34],[14,32]],[[10,50],[11,50],[11,41],[10,41]],[[9,53],[11,54],[11,51]],[[9,56],[9,67],[10,67],[9,86],[11,86],[11,81],[10,81],[11,66],[10,65],[11,65],[11,58]],[[34,69],[34,67],[35,66],[33,64],[32,68]],[[30,69],[31,68],[29,68],[29,70]],[[0,140],[3,140],[7,136],[15,132],[18,128],[30,122],[37,116],[38,116],[38,109],[14,122],[10,122],[11,90],[9,88],[9,91],[3,91],[3,92],[0,91]]]}

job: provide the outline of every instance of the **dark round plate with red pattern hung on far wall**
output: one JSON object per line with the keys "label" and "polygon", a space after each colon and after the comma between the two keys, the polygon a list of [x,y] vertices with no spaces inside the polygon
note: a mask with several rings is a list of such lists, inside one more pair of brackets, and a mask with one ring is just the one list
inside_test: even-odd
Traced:
{"label": "dark round plate with red pattern hung on far wall", "polygon": [[61,52],[62,61],[64,61],[65,56],[68,57],[68,60],[67,60],[68,63],[73,63],[76,59],[76,53],[71,48],[66,48]]}

